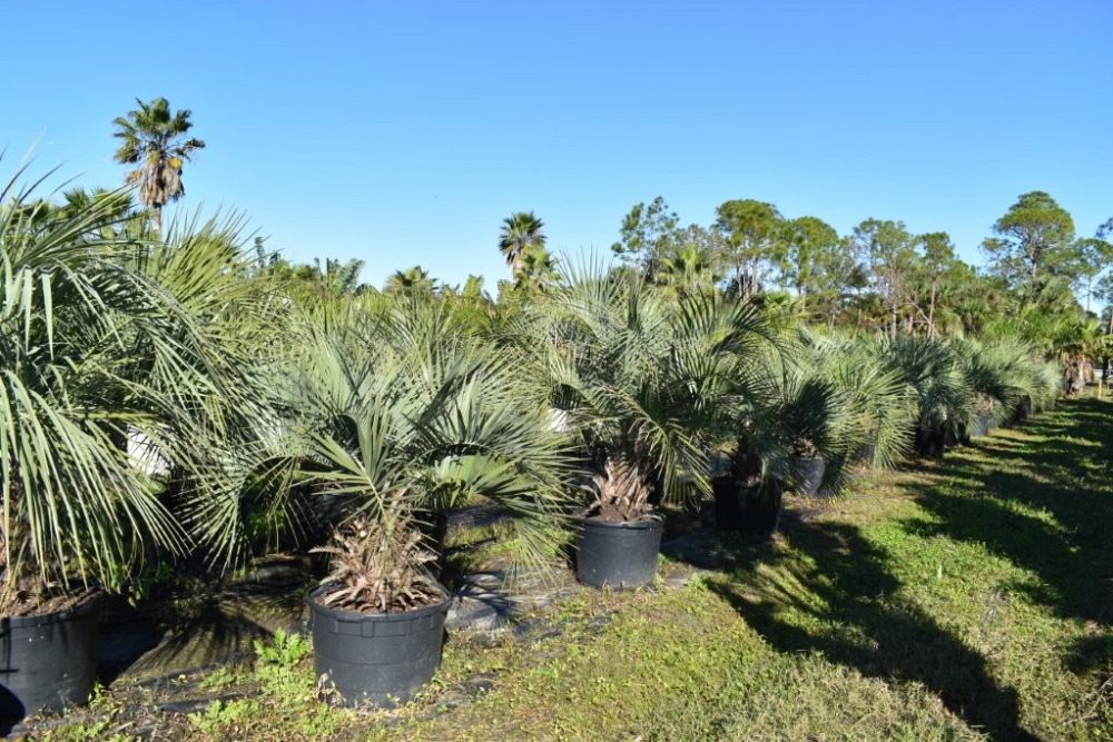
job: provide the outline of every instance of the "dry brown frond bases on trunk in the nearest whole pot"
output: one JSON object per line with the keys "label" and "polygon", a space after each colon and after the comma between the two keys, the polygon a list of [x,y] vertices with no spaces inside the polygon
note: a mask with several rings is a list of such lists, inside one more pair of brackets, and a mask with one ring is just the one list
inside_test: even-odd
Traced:
{"label": "dry brown frond bases on trunk in the nearest whole pot", "polygon": [[436,555],[425,548],[408,514],[384,512],[382,517],[353,520],[337,531],[335,546],[313,550],[333,557],[326,584],[335,588],[318,601],[357,613],[401,613],[444,600],[444,591],[426,564]]}

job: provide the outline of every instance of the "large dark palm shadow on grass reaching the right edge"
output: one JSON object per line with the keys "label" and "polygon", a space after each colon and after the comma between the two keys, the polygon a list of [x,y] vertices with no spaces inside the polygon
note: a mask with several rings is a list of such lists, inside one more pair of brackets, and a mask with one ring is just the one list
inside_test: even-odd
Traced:
{"label": "large dark palm shadow on grass reaching the right edge", "polygon": [[[984,544],[1037,580],[1012,585],[1033,603],[1100,626],[1113,621],[1113,405],[1070,399],[1022,428],[925,466],[910,485],[932,517],[906,530]],[[974,484],[975,486],[971,486]],[[1113,663],[1113,642],[1084,640],[1075,672]]]}

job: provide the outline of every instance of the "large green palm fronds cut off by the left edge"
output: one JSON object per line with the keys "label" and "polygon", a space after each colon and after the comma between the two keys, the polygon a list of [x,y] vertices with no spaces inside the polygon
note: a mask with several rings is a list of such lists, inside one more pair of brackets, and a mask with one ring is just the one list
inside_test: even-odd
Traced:
{"label": "large green palm fronds cut off by the left edge", "polygon": [[217,389],[196,318],[135,268],[118,199],[40,219],[18,177],[0,192],[2,598],[33,611],[75,583],[120,586],[154,544],[186,544],[127,442],[191,448],[186,399]]}

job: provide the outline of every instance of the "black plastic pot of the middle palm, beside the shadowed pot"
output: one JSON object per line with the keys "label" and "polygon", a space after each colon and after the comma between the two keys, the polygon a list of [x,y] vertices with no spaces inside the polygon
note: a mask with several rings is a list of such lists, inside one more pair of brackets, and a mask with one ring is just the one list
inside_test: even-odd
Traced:
{"label": "black plastic pot of the middle palm, beside the shadowed pot", "polygon": [[653,582],[661,551],[660,520],[580,521],[575,576],[585,585],[633,590]]}

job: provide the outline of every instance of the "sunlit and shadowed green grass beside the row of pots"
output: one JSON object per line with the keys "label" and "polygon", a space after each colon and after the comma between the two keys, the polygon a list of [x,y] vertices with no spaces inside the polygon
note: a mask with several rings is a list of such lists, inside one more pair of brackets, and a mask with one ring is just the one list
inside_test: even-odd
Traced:
{"label": "sunlit and shadowed green grass beside the row of pots", "polygon": [[578,593],[559,636],[453,636],[401,712],[321,704],[295,644],[210,681],[243,698],[146,723],[197,740],[1113,740],[1113,403],[1065,402],[812,511],[681,591]]}

